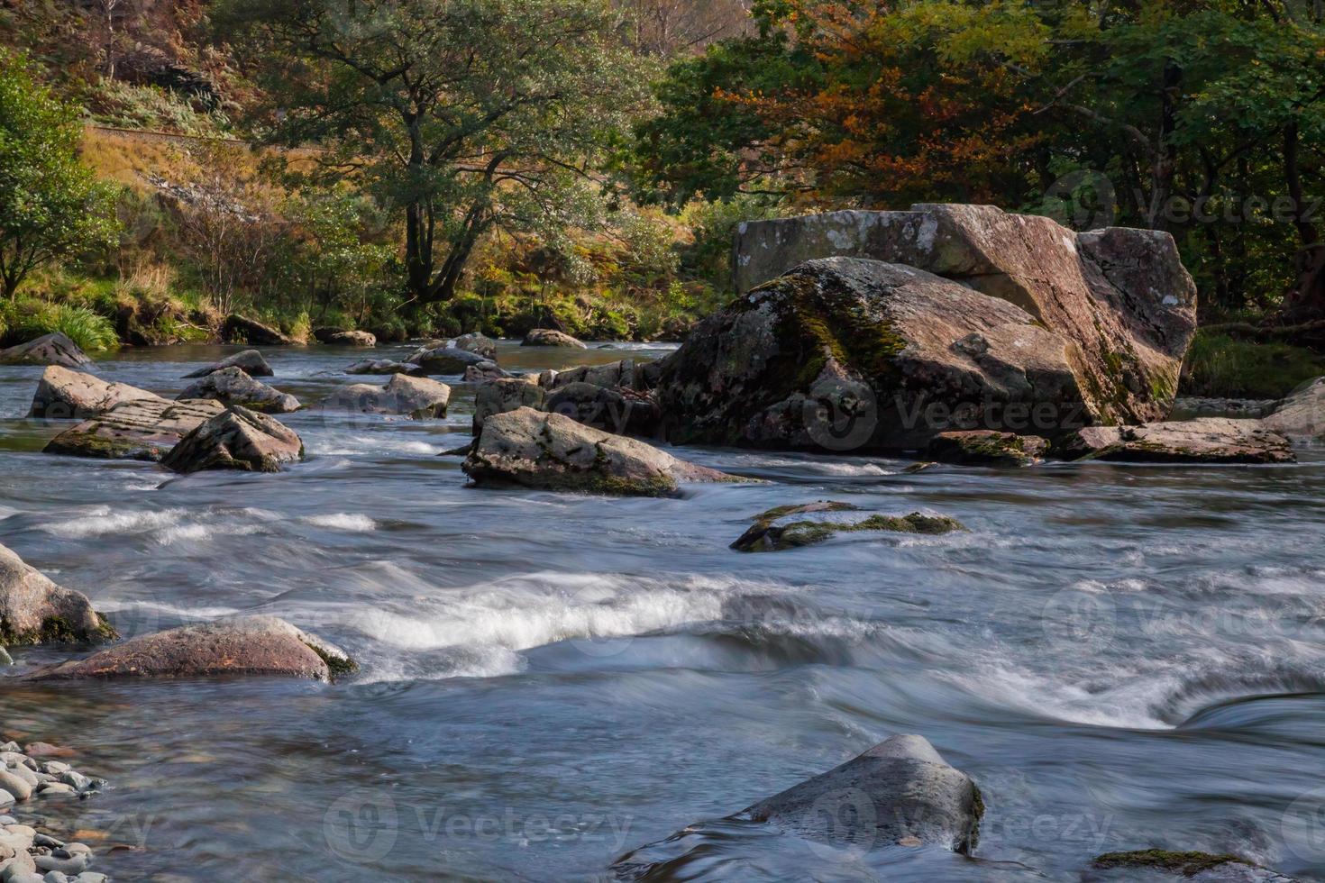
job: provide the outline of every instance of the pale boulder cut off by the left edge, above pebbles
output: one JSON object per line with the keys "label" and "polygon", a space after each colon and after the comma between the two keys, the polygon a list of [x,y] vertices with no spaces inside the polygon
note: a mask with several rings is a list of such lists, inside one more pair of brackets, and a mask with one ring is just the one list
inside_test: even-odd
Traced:
{"label": "pale boulder cut off by the left edge, above pebbles", "polygon": [[91,601],[0,545],[0,646],[106,641],[115,635]]}

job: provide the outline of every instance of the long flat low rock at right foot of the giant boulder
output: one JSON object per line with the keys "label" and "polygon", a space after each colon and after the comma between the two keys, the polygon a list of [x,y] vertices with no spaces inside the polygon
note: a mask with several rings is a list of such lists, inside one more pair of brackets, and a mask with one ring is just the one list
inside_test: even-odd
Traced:
{"label": "long flat low rock at right foot of the giant boulder", "polygon": [[1088,426],[1061,453],[1129,463],[1292,463],[1288,438],[1259,420],[1199,417],[1141,426]]}

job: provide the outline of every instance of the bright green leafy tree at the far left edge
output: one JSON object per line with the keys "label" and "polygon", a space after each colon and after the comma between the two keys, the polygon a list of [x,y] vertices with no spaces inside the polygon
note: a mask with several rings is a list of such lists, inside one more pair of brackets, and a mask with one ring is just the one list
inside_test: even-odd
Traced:
{"label": "bright green leafy tree at the far left edge", "polygon": [[78,158],[77,109],[40,86],[23,56],[0,50],[0,291],[34,269],[109,245],[114,191]]}

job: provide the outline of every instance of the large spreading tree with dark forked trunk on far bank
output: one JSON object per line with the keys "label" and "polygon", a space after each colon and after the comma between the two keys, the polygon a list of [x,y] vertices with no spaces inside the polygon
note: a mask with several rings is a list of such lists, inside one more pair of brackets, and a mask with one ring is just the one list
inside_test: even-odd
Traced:
{"label": "large spreading tree with dark forked trunk on far bank", "polygon": [[607,0],[229,0],[265,61],[272,139],[330,148],[405,222],[419,302],[450,299],[488,230],[566,222],[645,97]]}

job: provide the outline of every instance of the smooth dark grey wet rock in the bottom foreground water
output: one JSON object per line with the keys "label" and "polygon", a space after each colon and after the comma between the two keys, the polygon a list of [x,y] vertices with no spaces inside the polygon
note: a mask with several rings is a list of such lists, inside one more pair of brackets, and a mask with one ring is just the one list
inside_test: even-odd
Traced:
{"label": "smooth dark grey wet rock in the bottom foreground water", "polygon": [[713,837],[725,839],[722,831],[731,822],[765,823],[848,857],[925,846],[970,855],[983,814],[970,776],[950,767],[922,736],[893,736],[841,767],[729,815],[727,826],[692,825],[628,853],[612,870],[619,879],[653,879],[655,872],[670,879],[669,872],[710,857]]}

